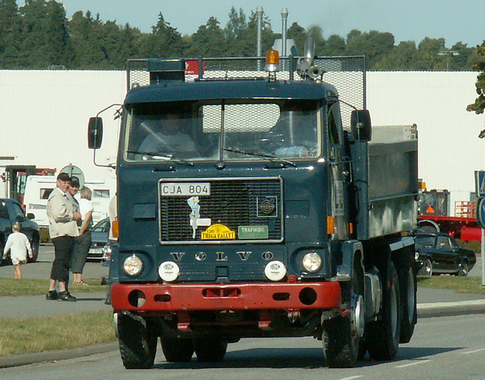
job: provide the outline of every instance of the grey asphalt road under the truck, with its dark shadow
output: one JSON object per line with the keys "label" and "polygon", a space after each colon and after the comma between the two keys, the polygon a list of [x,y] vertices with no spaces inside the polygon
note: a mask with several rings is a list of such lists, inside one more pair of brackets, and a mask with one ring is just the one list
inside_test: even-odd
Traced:
{"label": "grey asphalt road under the truck, with its dark shadow", "polygon": [[371,361],[330,369],[313,338],[242,339],[224,361],[168,363],[158,346],[154,368],[125,370],[118,351],[64,361],[0,369],[1,379],[484,379],[485,315],[427,318],[394,361]]}

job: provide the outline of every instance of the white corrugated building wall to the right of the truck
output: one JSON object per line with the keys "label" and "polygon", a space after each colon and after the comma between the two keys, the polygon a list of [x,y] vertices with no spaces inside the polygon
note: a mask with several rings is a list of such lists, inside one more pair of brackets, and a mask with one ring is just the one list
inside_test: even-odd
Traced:
{"label": "white corrugated building wall to the right of the truck", "polygon": [[[373,125],[418,125],[419,177],[428,190],[470,199],[474,170],[485,168],[484,116],[466,111],[475,101],[475,72],[369,72],[367,108]],[[453,211],[452,211],[453,212]]]}

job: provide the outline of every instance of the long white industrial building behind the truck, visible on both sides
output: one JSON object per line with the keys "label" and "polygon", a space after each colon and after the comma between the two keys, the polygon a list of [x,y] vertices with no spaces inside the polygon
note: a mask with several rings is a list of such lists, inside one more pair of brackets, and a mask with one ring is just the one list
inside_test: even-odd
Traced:
{"label": "long white industrial building behind the truck, visible on both sides", "polygon": [[[476,72],[368,72],[367,108],[373,125],[418,125],[419,177],[428,189],[448,189],[451,201],[470,200],[474,171],[485,168],[484,116],[475,101]],[[0,71],[0,173],[5,165],[60,170],[70,163],[86,177],[115,177],[93,164],[87,148],[90,116],[121,103],[125,71]],[[103,116],[98,163],[116,162],[119,120]],[[0,197],[4,186],[0,187]],[[454,204],[454,203],[452,203]]]}

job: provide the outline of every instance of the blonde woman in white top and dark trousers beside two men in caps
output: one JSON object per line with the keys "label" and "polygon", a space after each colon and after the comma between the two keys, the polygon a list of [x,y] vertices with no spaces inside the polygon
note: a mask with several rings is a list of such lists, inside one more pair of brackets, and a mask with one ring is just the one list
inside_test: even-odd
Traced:
{"label": "blonde woman in white top and dark trousers beside two men in caps", "polygon": [[82,224],[79,227],[79,237],[76,238],[76,247],[71,258],[71,272],[73,273],[74,285],[87,285],[82,281],[82,269],[86,263],[89,246],[91,246],[91,229],[93,227],[93,202],[92,191],[86,186],[80,190],[79,209]]}

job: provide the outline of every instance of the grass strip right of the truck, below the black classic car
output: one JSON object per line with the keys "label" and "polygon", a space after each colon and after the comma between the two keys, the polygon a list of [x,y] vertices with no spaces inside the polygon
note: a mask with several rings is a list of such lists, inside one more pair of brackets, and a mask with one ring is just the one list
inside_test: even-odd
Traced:
{"label": "grass strip right of the truck, below the black classic car", "polygon": [[480,277],[459,277],[457,275],[436,275],[418,277],[418,287],[448,289],[457,293],[485,294]]}

